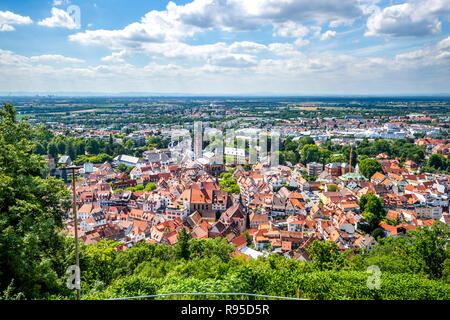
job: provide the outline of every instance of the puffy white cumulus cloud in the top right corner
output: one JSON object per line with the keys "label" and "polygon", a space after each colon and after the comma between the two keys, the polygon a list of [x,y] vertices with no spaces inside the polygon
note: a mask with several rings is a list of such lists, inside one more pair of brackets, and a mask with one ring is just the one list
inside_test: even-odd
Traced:
{"label": "puffy white cumulus cloud in the top right corner", "polygon": [[366,36],[426,36],[441,32],[440,16],[450,16],[450,0],[422,0],[375,9]]}

